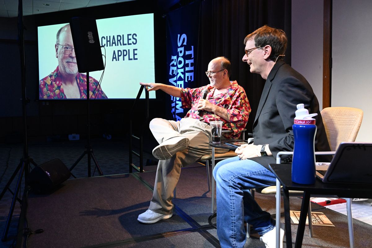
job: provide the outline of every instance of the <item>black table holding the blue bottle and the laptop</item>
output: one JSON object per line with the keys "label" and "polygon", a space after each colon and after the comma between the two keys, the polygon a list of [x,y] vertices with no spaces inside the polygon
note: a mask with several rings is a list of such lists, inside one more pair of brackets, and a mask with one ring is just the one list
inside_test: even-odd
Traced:
{"label": "black table holding the blue bottle and the laptop", "polygon": [[343,198],[372,198],[372,188],[366,184],[323,183],[318,178],[315,180],[315,184],[298,184],[292,182],[291,164],[270,164],[269,167],[278,179],[279,183],[283,186],[287,247],[292,248],[291,218],[289,216],[289,190],[304,191],[295,248],[301,247],[302,245],[311,194],[337,195],[338,197]]}

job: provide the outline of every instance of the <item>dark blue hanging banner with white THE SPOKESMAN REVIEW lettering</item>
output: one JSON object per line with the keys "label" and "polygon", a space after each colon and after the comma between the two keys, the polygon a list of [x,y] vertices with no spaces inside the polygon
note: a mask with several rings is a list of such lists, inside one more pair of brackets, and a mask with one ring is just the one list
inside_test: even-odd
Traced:
{"label": "dark blue hanging banner with white THE SPOKESMAN REVIEW lettering", "polygon": [[[194,68],[197,55],[199,29],[199,3],[189,4],[167,14],[167,69],[168,84],[179,88],[194,88]],[[181,99],[171,96],[167,100],[167,117],[183,118]]]}

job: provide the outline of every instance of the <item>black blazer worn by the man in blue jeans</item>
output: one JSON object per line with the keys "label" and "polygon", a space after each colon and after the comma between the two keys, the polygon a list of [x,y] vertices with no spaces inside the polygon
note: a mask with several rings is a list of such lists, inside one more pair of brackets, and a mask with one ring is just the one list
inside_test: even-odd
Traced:
{"label": "black blazer worn by the man in blue jeans", "polygon": [[269,163],[275,163],[278,152],[293,151],[292,125],[299,103],[304,103],[309,113],[318,113],[314,117],[317,125],[315,151],[330,151],[314,91],[301,74],[280,60],[267,77],[253,123],[254,145],[269,144],[273,157],[251,160],[268,168]]}

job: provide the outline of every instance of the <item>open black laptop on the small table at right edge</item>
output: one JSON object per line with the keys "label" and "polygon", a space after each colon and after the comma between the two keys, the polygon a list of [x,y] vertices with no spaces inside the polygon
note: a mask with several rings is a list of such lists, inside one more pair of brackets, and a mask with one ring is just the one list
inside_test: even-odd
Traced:
{"label": "open black laptop on the small table at right edge", "polygon": [[315,167],[324,183],[372,184],[372,143],[341,143],[330,163]]}

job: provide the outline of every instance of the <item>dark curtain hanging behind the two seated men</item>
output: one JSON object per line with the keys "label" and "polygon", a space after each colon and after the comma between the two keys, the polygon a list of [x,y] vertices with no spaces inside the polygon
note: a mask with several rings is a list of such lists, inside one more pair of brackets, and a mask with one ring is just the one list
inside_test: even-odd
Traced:
{"label": "dark curtain hanging behind the two seated men", "polygon": [[251,131],[265,80],[250,73],[248,64],[242,61],[243,41],[263,25],[283,29],[288,37],[285,61],[291,64],[291,0],[204,0],[199,11],[196,87],[209,83],[205,71],[212,58],[230,59],[230,80],[237,80],[244,87],[250,102],[252,112],[246,128]]}

